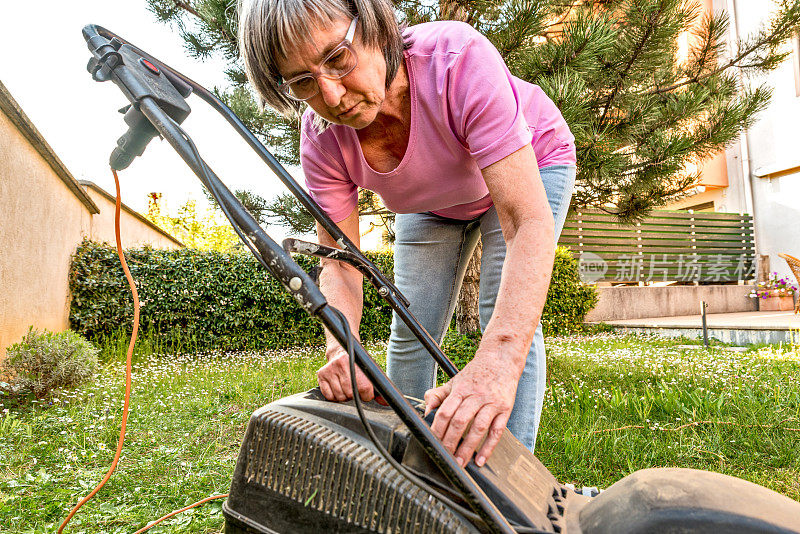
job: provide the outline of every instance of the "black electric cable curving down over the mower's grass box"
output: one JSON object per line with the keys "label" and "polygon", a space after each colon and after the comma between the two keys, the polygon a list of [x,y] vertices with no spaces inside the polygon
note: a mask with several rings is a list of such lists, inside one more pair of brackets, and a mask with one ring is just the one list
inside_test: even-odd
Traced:
{"label": "black electric cable curving down over the mower's grass box", "polygon": [[[359,419],[361,419],[361,424],[364,426],[364,430],[366,430],[367,435],[372,440],[372,443],[373,445],[375,445],[375,448],[378,450],[381,456],[383,456],[383,458],[387,462],[389,462],[389,464],[392,465],[392,467],[394,467],[398,472],[400,472],[401,475],[405,476],[417,487],[429,493],[434,498],[439,499],[447,506],[450,506],[451,508],[455,509],[458,513],[467,517],[473,523],[485,524],[483,518],[481,518],[478,514],[456,503],[450,497],[444,495],[439,490],[432,487],[430,484],[422,480],[420,477],[409,471],[408,468],[406,468],[403,464],[395,460],[394,457],[391,455],[391,453],[389,453],[389,451],[387,451],[386,448],[383,446],[383,444],[380,442],[378,436],[375,435],[375,431],[372,429],[372,424],[369,422],[366,414],[364,413],[364,407],[362,405],[361,397],[358,395],[358,383],[356,382],[355,347],[353,344],[353,334],[350,331],[350,325],[347,322],[347,318],[341,311],[335,308],[332,309],[334,315],[336,315],[339,318],[339,321],[342,323],[342,329],[344,332],[346,332],[347,335],[347,343],[346,343],[347,346],[345,347],[345,350],[347,351],[347,358],[348,358],[347,361],[350,367],[350,385],[353,388],[353,404],[355,404],[356,411],[358,412],[358,417]],[[552,534],[551,532],[545,530],[539,530],[533,527],[526,527],[523,525],[515,524],[513,522],[511,526],[519,534]]]}

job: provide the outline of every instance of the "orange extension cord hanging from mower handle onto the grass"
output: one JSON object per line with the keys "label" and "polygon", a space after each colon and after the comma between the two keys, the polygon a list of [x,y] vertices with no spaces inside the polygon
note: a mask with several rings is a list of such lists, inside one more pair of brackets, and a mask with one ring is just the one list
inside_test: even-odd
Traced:
{"label": "orange extension cord hanging from mower handle onto the grass", "polygon": [[[67,515],[66,519],[64,519],[64,522],[61,523],[60,527],[58,527],[58,534],[61,534],[64,531],[64,527],[67,526],[67,523],[70,522],[72,516],[75,515],[78,509],[80,509],[81,506],[86,504],[86,502],[89,499],[94,497],[95,494],[98,491],[100,491],[100,489],[103,486],[105,486],[106,482],[108,482],[108,479],[111,478],[111,475],[117,468],[119,457],[122,454],[122,444],[125,441],[125,426],[128,423],[128,408],[131,400],[131,361],[133,359],[133,346],[136,344],[136,336],[139,333],[139,293],[136,291],[136,285],[133,283],[133,276],[131,276],[131,271],[128,269],[128,264],[125,261],[125,255],[122,253],[122,239],[120,238],[119,235],[120,207],[122,205],[121,195],[119,192],[119,178],[117,177],[117,171],[115,171],[114,169],[111,169],[111,174],[114,175],[114,183],[117,188],[117,205],[114,211],[114,237],[116,238],[117,241],[117,254],[119,255],[119,261],[122,264],[122,270],[125,271],[125,278],[128,279],[128,285],[131,288],[131,293],[133,293],[133,332],[131,333],[131,342],[128,345],[128,356],[127,359],[125,360],[125,404],[122,407],[122,428],[119,431],[119,441],[117,441],[117,452],[114,454],[114,461],[111,462],[111,467],[109,468],[108,473],[106,473],[106,476],[103,477],[103,480],[100,481],[97,487],[94,488],[89,493],[89,495],[81,499],[80,502],[76,504],[75,507],[70,511],[69,515]],[[196,506],[200,506],[201,504],[204,504],[208,501],[213,501],[214,499],[223,499],[227,496],[228,494],[226,493],[224,495],[214,495],[212,497],[206,497],[205,499],[197,501],[194,504],[190,504],[189,506],[181,508],[180,510],[175,510],[174,512],[168,513],[164,517],[161,517],[156,521],[153,521],[146,527],[137,530],[134,534],[140,534],[141,532],[146,532],[151,528],[153,528],[154,526],[156,526],[157,524],[161,523],[162,521],[169,519],[170,517],[173,517],[181,512],[185,512],[186,510],[189,510]]]}

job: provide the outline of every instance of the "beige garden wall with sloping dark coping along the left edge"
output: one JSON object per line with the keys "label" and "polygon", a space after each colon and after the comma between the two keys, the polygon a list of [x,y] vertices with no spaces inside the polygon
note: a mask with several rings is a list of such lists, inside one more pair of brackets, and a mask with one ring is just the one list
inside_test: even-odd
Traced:
{"label": "beige garden wall with sloping dark coping along the left edge", "polygon": [[[29,326],[69,327],[70,257],[85,237],[114,239],[110,195],[86,187],[0,83],[0,362]],[[123,242],[181,246],[142,219],[123,211]]]}

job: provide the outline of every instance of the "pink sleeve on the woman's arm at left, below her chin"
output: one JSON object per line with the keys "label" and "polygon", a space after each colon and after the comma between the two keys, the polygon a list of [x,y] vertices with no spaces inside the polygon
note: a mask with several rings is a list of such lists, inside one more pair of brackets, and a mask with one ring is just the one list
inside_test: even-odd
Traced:
{"label": "pink sleeve on the woman's arm at left, below her chin", "polygon": [[[358,187],[344,165],[325,150],[303,117],[300,132],[300,165],[308,192],[334,222],[343,221],[358,205]],[[310,121],[309,121],[310,122]],[[314,137],[317,137],[315,140]]]}

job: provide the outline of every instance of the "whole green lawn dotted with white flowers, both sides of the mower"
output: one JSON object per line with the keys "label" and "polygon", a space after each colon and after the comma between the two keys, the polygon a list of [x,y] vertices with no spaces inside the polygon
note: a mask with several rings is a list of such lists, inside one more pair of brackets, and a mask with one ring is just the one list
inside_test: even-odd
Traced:
{"label": "whole green lawn dotted with white flowers, both sides of the mower", "polygon": [[[548,340],[537,454],[556,477],[606,487],[646,467],[738,476],[800,500],[800,346],[746,353],[601,334]],[[383,359],[385,346],[370,350]],[[115,351],[118,352],[118,349]],[[250,413],[316,385],[321,350],[144,354],[116,473],[67,532],[125,532],[226,493]],[[124,365],[45,401],[0,404],[0,532],[53,532],[114,454]],[[795,429],[795,430],[790,430]],[[150,532],[221,532],[212,501]]]}

